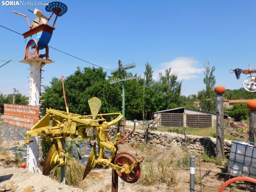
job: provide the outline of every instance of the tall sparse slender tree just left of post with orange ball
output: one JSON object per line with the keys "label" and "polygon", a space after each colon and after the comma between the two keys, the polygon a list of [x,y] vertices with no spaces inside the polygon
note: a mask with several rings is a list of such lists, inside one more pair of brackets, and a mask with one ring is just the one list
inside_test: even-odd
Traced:
{"label": "tall sparse slender tree just left of post with orange ball", "polygon": [[213,72],[215,71],[215,67],[212,66],[210,68],[210,63],[207,62],[204,64],[204,79],[203,82],[206,85],[206,88],[202,91],[198,92],[198,99],[200,100],[200,108],[205,111],[215,112],[216,111],[216,102],[215,101],[206,101],[206,99],[213,99],[215,98],[216,94],[214,93],[214,86],[216,84],[215,76]]}

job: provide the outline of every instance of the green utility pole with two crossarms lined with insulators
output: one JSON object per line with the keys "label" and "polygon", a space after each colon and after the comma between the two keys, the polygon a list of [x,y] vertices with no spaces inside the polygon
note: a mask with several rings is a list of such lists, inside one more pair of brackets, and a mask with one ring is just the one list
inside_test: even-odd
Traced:
{"label": "green utility pole with two crossarms lined with insulators", "polygon": [[[123,115],[123,119],[122,119],[122,124],[121,124],[121,139],[123,139],[125,137],[125,91],[124,91],[124,85],[125,85],[125,81],[128,81],[128,80],[134,80],[134,79],[137,79],[136,76],[133,76],[133,77],[125,77],[125,70],[126,69],[130,69],[130,68],[133,68],[133,67],[136,67],[135,63],[133,64],[128,64],[128,65],[125,65],[123,66],[123,63],[122,61],[118,61],[118,68],[117,69],[114,69],[111,71],[111,75],[114,75],[115,73],[119,73],[120,78],[118,79],[115,79],[113,81],[110,81],[110,84],[113,84],[113,83],[118,83],[122,89],[123,89],[123,94],[122,94],[122,97],[123,97],[123,110],[122,110],[122,115]],[[122,82],[122,85],[119,83],[119,82]],[[125,140],[121,142],[122,144],[125,143]]]}

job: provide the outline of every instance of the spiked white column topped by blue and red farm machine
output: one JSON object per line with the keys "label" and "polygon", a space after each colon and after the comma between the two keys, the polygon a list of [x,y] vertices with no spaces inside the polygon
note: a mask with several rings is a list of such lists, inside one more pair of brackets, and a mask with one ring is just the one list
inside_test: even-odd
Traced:
{"label": "spiked white column topped by blue and red farm machine", "polygon": [[[51,40],[53,30],[55,29],[54,25],[58,16],[62,16],[67,12],[67,6],[61,2],[52,2],[49,3],[45,9],[48,12],[52,12],[51,16],[44,16],[38,9],[35,9],[34,11],[29,10],[37,16],[31,25],[29,23],[28,16],[13,11],[16,14],[26,17],[30,28],[30,30],[22,34],[27,45],[25,50],[25,58],[20,62],[27,63],[30,66],[28,69],[30,70],[30,73],[29,76],[27,76],[29,78],[29,84],[27,84],[29,86],[29,92],[26,92],[29,94],[29,99],[27,100],[29,102],[28,105],[39,106],[39,110],[42,102],[42,67],[48,63],[53,63],[53,61],[49,58],[48,43]],[[48,22],[52,19],[53,14],[56,14],[56,18],[53,25],[50,26],[48,25]],[[32,49],[31,52],[29,52],[29,48]],[[45,54],[39,54],[39,50],[44,48],[46,49]],[[46,59],[44,59],[44,57]],[[40,117],[38,116],[38,118]],[[42,167],[38,166],[40,145],[39,137],[35,136],[31,138],[31,140],[33,140],[33,143],[30,143],[27,149],[27,168],[33,173],[42,173]]]}

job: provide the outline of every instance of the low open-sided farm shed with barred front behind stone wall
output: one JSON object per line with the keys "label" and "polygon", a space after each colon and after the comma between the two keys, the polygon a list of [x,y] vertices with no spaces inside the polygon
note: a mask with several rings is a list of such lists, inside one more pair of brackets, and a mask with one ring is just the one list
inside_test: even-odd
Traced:
{"label": "low open-sided farm shed with barred front behind stone wall", "polygon": [[163,127],[213,127],[216,122],[216,114],[196,109],[180,107],[155,112],[158,126]]}

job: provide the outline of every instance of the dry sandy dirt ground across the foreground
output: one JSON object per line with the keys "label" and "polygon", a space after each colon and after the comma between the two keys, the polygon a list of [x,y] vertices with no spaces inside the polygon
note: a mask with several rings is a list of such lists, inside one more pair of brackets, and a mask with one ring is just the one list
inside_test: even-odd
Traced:
{"label": "dry sandy dirt ground across the foreground", "polygon": [[[93,170],[90,174],[81,182],[79,188],[74,188],[72,186],[67,186],[64,184],[60,184],[56,181],[53,181],[48,176],[43,176],[41,174],[33,174],[29,172],[27,169],[22,169],[17,167],[14,163],[14,152],[16,152],[17,148],[20,146],[25,146],[24,139],[23,140],[11,140],[14,138],[16,134],[23,135],[21,132],[16,133],[15,128],[8,128],[12,133],[10,137],[4,136],[8,135],[4,130],[5,126],[0,125],[1,131],[1,148],[7,148],[9,151],[0,155],[0,192],[4,191],[6,184],[9,183],[10,191],[13,192],[66,192],[66,191],[74,191],[74,192],[110,192],[111,191],[111,181],[112,181],[112,170],[111,169],[99,169]],[[8,130],[6,128],[6,131]],[[5,132],[5,133],[4,133]],[[17,138],[17,137],[16,137]],[[143,186],[138,183],[126,183],[122,179],[119,178],[119,191],[127,191],[127,192],[189,192],[189,179],[190,179],[190,171],[185,170],[189,168],[189,166],[178,166],[178,161],[182,160],[185,155],[188,155],[181,148],[173,148],[171,150],[163,150],[163,149],[154,149],[154,148],[141,148],[141,147],[131,147],[127,143],[124,145],[120,145],[119,152],[128,152],[134,155],[136,158],[140,158],[142,156],[145,157],[143,163],[141,164],[142,174],[147,172],[146,165],[150,165],[152,163],[153,167],[157,172],[157,167],[161,159],[165,159],[168,161],[172,161],[170,166],[176,172],[176,178],[178,183],[167,186],[166,183],[156,182],[152,186]],[[84,159],[83,165],[85,165],[87,159]],[[226,172],[224,168],[224,163],[222,166],[217,166],[214,163],[205,163],[202,161],[201,157],[196,157],[195,160],[195,169],[199,169],[199,163],[202,170],[214,171],[214,172]],[[197,182],[200,182],[199,171],[196,171],[195,177]],[[142,177],[141,177],[142,178]],[[216,188],[210,187],[202,187],[203,192],[217,192],[218,188],[228,179],[227,176],[223,176],[222,174],[212,173],[212,172],[201,172],[201,183],[204,186],[212,186]],[[8,187],[8,186],[7,186]],[[245,191],[245,186],[237,186],[236,191]],[[250,187],[250,184],[248,184]],[[200,191],[200,186],[196,186],[195,189]],[[253,186],[248,191],[256,191],[255,186]]]}

